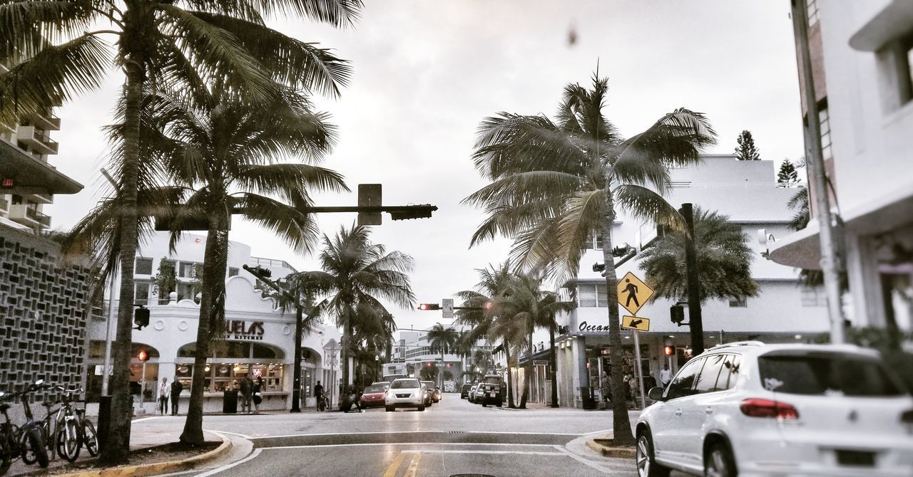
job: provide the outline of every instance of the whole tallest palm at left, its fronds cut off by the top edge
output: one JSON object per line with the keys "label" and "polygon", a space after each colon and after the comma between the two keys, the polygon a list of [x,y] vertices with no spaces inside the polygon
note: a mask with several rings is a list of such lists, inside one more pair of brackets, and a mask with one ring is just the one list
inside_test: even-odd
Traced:
{"label": "whole tallest palm at left, its fronds cut off by the top edge", "polygon": [[[291,12],[335,26],[351,25],[358,0],[25,0],[0,4],[0,122],[41,113],[99,88],[110,68],[124,74],[124,135],[118,244],[121,305],[111,377],[110,445],[104,463],[127,461],[130,442],[129,373],[133,261],[138,243],[143,91],[156,85],[193,94],[214,80],[264,104],[275,81],[332,95],[349,68],[327,50],[266,26],[264,15]],[[110,24],[91,30],[90,26]],[[113,36],[113,45],[103,39]],[[48,41],[49,38],[53,41]],[[108,267],[110,269],[110,266]]]}

